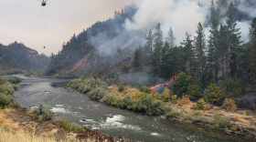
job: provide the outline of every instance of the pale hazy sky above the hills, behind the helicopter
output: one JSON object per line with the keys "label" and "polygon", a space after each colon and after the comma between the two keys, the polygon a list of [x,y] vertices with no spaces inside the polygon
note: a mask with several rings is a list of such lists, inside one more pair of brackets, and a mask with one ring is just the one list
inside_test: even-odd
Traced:
{"label": "pale hazy sky above the hills, behind the helicopter", "polygon": [[0,43],[6,46],[17,41],[39,54],[56,54],[73,34],[112,17],[132,1],[48,0],[43,7],[39,0],[0,0]]}

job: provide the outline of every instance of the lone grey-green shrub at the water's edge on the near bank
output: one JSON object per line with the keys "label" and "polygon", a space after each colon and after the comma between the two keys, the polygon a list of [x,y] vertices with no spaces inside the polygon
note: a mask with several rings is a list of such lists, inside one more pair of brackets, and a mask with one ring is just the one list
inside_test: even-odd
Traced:
{"label": "lone grey-green shrub at the water's edge on the near bank", "polygon": [[49,109],[49,106],[40,103],[39,105],[39,112],[38,115],[41,117],[39,118],[40,121],[47,121],[50,120],[52,117],[52,111]]}

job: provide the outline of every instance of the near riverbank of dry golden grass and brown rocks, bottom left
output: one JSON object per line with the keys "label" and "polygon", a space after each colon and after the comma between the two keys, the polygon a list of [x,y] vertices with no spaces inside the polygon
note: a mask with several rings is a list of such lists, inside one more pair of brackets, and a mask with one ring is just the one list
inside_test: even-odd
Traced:
{"label": "near riverbank of dry golden grass and brown rocks, bottom left", "polygon": [[[27,137],[27,134],[32,134],[33,137],[49,137],[55,141],[78,141],[78,142],[129,142],[122,137],[112,137],[107,134],[102,134],[95,130],[89,129],[86,131],[80,131],[73,133],[70,131],[64,131],[59,127],[58,123],[53,120],[39,121],[38,116],[34,114],[27,114],[28,108],[20,107],[17,109],[5,108],[0,109],[0,129],[3,132],[4,129],[11,131],[12,134],[18,132],[24,133],[23,137]],[[5,130],[4,130],[5,131]],[[4,138],[4,137],[2,137]],[[1,141],[1,140],[0,140]],[[4,140],[5,141],[5,140]]]}

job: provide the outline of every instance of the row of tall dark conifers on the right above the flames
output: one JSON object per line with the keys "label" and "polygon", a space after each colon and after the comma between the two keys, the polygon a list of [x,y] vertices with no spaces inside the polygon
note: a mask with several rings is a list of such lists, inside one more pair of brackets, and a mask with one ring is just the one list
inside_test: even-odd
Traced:
{"label": "row of tall dark conifers on the right above the flames", "polygon": [[[210,7],[214,10],[214,3]],[[177,76],[180,72],[200,80],[202,86],[210,82],[232,78],[243,84],[256,83],[256,18],[251,22],[247,43],[241,41],[240,28],[237,27],[236,6],[233,2],[225,16],[226,24],[212,19],[208,40],[201,23],[192,39],[186,33],[186,39],[181,46],[175,45],[172,28],[168,37],[163,39],[161,24],[155,25],[155,32],[149,31],[144,46],[139,46],[133,56],[133,69],[140,72],[146,66],[151,66],[155,76],[166,79]],[[215,15],[214,13],[212,15]],[[218,16],[212,16],[218,18]]]}

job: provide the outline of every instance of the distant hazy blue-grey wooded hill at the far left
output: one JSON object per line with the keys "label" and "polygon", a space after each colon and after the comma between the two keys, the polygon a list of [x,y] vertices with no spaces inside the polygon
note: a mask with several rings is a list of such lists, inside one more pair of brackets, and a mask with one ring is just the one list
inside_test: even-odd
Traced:
{"label": "distant hazy blue-grey wooded hill at the far left", "polygon": [[38,55],[36,50],[24,44],[14,42],[8,46],[0,44],[0,69],[45,69],[50,59],[43,54]]}

